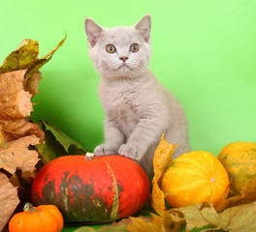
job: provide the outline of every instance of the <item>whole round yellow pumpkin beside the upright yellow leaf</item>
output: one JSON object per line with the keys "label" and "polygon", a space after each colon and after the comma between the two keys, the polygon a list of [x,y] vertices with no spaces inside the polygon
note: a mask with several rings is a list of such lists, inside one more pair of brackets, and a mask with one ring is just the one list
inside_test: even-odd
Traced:
{"label": "whole round yellow pumpkin beside the upright yellow leaf", "polygon": [[175,208],[203,202],[216,205],[228,195],[229,177],[212,154],[194,151],[170,163],[161,186],[166,200]]}

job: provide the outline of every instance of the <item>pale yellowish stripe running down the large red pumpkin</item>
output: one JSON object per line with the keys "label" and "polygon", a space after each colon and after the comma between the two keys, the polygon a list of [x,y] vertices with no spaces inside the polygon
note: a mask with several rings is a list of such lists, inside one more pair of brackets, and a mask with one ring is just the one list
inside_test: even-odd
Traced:
{"label": "pale yellowish stripe running down the large red pumpkin", "polygon": [[118,208],[119,208],[119,191],[118,191],[117,184],[116,184],[116,177],[114,176],[114,172],[112,170],[110,163],[105,160],[104,160],[104,162],[107,164],[108,172],[110,173],[110,175],[112,177],[112,186],[114,189],[114,196],[112,199],[111,219],[116,219],[118,217],[117,212],[118,212]]}

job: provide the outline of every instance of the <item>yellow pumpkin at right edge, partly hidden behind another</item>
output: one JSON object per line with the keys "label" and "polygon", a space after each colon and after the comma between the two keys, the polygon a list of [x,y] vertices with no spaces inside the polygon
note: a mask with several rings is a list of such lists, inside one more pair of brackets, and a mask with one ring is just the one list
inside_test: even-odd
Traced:
{"label": "yellow pumpkin at right edge, partly hidden behind another", "polygon": [[218,159],[226,168],[230,183],[230,193],[238,195],[241,188],[256,176],[256,144],[234,142],[222,148]]}

